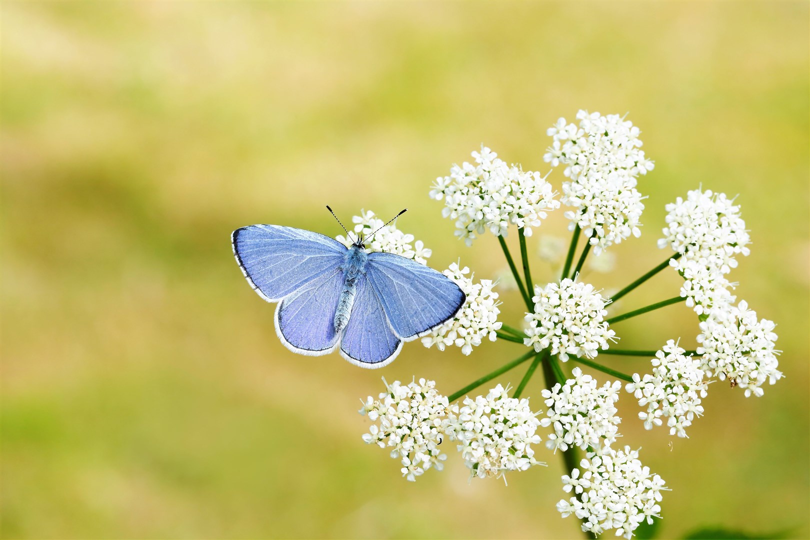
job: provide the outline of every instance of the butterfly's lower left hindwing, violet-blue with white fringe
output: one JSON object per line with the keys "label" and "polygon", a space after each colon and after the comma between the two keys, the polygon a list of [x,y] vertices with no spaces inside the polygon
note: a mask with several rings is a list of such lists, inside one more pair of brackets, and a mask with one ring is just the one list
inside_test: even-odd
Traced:
{"label": "butterfly's lower left hindwing, violet-blue with white fringe", "polygon": [[335,311],[343,270],[335,268],[303,285],[275,308],[275,331],[290,351],[320,356],[335,351]]}

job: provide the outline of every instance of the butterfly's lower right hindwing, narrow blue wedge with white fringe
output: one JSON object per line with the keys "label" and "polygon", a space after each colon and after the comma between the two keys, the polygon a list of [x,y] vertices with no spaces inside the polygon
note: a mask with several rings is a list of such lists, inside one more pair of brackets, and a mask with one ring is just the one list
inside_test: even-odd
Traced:
{"label": "butterfly's lower right hindwing, narrow blue wedge with white fringe", "polygon": [[361,368],[382,368],[399,355],[403,342],[391,330],[369,280],[357,280],[352,314],[343,331],[340,354]]}

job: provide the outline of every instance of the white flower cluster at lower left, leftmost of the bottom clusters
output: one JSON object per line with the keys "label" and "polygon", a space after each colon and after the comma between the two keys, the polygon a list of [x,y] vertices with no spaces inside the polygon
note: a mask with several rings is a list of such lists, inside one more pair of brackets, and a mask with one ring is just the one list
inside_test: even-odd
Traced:
{"label": "white flower cluster at lower left, leftmost of the bottom clusters", "polygon": [[363,440],[390,449],[391,457],[402,463],[405,478],[413,482],[431,467],[442,469],[447,455],[440,452],[438,445],[450,422],[450,407],[447,397],[437,392],[434,381],[386,383],[386,392],[379,399],[369,396],[359,412],[376,422]]}

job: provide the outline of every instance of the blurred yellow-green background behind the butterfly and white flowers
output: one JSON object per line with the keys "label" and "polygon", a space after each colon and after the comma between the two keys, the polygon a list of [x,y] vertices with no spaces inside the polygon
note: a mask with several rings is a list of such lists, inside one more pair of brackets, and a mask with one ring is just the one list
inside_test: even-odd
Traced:
{"label": "blurred yellow-green background behind the butterfly and white flowers", "polygon": [[[752,254],[731,278],[784,351],[786,378],[762,398],[712,385],[689,440],[645,432],[620,401],[624,442],[672,488],[660,534],[810,535],[808,2],[0,10],[4,538],[577,537],[545,449],[548,469],[508,487],[467,483],[453,449],[445,471],[407,483],[360,440],[358,398],[381,376],[452,393],[520,347],[411,343],[382,371],[293,355],[228,235],[280,223],[334,236],[326,204],[344,221],[407,206],[399,227],[433,248],[431,266],[461,257],[494,277],[497,241],[455,240],[429,186],[481,142],[548,171],[545,130],[578,108],[629,112],[656,164],[642,237],[589,279],[620,287],[663,260],[676,196],[739,193]],[[561,171],[549,180],[559,189]],[[565,225],[556,212],[535,234]],[[538,259],[534,273],[552,279]],[[619,309],[678,287],[661,274]],[[501,299],[518,325],[518,295]],[[626,347],[693,348],[697,321],[679,304],[616,330]],[[542,388],[538,375],[527,389],[535,406]]]}

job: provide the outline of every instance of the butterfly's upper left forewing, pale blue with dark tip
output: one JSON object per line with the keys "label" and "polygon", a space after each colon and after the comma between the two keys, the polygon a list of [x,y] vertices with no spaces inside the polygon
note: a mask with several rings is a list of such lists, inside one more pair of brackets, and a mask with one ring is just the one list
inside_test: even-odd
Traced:
{"label": "butterfly's upper left forewing, pale blue with dark tip", "polygon": [[280,225],[251,225],[231,235],[233,254],[250,286],[278,302],[343,264],[346,246],[329,236]]}

